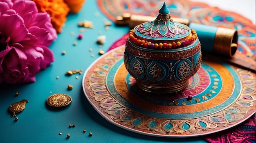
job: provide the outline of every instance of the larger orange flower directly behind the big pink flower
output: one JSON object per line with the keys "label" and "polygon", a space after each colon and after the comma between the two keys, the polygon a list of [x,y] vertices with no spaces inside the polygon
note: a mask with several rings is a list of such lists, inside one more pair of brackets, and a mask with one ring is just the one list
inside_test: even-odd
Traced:
{"label": "larger orange flower directly behind the big pink flower", "polygon": [[[52,26],[58,33],[62,32],[61,27],[67,21],[69,7],[63,0],[33,0],[36,3],[38,12],[47,12],[52,17]],[[74,0],[75,1],[75,0]]]}

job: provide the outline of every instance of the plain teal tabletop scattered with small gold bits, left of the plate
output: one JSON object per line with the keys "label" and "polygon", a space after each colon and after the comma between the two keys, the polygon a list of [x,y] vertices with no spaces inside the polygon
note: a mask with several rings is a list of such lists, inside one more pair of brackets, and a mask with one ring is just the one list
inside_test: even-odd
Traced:
{"label": "plain teal tabletop scattered with small gold bits, left of the plate", "polygon": [[[99,16],[95,16],[99,14]],[[92,21],[94,28],[82,32],[83,38],[77,39],[81,27],[77,23]],[[20,85],[0,85],[0,142],[1,143],[204,143],[202,137],[162,138],[150,137],[119,128],[94,110],[85,98],[82,78],[90,64],[99,58],[99,45],[96,43],[99,31],[106,35],[106,43],[101,47],[106,51],[110,45],[128,32],[126,27],[117,27],[114,23],[105,30],[103,20],[108,20],[98,9],[96,1],[86,0],[78,14],[67,15],[67,22],[58,39],[49,47],[55,61],[45,70],[36,74],[36,82]],[[70,35],[70,32],[74,35]],[[77,45],[73,45],[76,41]],[[89,49],[92,48],[90,52]],[[65,50],[66,54],[62,55]],[[94,57],[91,56],[94,54]],[[72,69],[83,69],[81,75],[65,76]],[[56,76],[59,76],[56,79]],[[75,77],[79,76],[78,79]],[[72,90],[67,90],[67,85]],[[19,92],[16,96],[15,93]],[[53,108],[46,99],[54,93],[65,93],[72,97],[69,106]],[[11,118],[9,106],[22,99],[29,100],[24,111],[17,113],[18,121]],[[75,127],[69,128],[70,124]],[[83,130],[86,132],[83,133]],[[58,133],[62,132],[62,135]],[[92,132],[92,136],[89,136]],[[70,134],[67,139],[66,135]]]}

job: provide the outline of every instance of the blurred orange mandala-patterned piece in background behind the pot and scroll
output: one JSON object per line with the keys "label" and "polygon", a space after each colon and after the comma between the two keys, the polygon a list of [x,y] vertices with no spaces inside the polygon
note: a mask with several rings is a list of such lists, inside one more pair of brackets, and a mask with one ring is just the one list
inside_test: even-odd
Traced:
{"label": "blurred orange mandala-patterned piece in background behind the pot and scroll", "polygon": [[[188,18],[191,22],[224,28],[235,28],[238,31],[238,53],[255,59],[255,25],[234,12],[223,11],[201,2],[188,0],[98,0],[99,9],[110,19],[122,13],[156,16],[163,2],[172,17]],[[118,6],[117,6],[118,5]]]}

